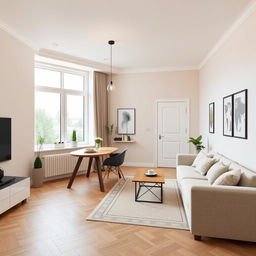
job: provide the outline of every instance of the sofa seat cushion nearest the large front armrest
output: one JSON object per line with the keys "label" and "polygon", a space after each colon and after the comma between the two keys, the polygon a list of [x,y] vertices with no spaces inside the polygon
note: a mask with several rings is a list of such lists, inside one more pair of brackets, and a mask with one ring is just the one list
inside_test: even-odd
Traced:
{"label": "sofa seat cushion nearest the large front armrest", "polygon": [[191,189],[194,186],[210,186],[207,179],[183,179],[180,181],[183,203],[186,209],[191,209]]}

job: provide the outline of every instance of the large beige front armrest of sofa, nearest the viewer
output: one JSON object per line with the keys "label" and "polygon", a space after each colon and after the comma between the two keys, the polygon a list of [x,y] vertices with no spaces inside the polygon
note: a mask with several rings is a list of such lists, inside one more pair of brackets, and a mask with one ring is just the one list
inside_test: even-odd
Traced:
{"label": "large beige front armrest of sofa, nearest the viewer", "polygon": [[194,235],[256,242],[256,188],[194,186],[191,232]]}

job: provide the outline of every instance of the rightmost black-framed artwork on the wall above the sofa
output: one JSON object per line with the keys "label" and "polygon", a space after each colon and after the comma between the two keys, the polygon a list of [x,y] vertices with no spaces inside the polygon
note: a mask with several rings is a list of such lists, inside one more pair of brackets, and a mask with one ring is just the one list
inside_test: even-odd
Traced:
{"label": "rightmost black-framed artwork on the wall above the sofa", "polygon": [[247,89],[234,93],[234,137],[247,139]]}

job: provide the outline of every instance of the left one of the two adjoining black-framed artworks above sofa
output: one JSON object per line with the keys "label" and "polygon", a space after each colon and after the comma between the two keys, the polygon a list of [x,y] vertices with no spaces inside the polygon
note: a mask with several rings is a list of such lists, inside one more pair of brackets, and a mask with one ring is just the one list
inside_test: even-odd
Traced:
{"label": "left one of the two adjoining black-framed artworks above sofa", "polygon": [[223,98],[223,135],[233,136],[233,95]]}

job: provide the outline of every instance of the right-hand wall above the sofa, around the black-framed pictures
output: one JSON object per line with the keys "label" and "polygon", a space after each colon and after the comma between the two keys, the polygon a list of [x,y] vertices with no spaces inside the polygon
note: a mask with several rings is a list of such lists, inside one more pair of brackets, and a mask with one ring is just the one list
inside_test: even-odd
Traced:
{"label": "right-hand wall above the sofa, around the black-framed pictures", "polygon": [[[200,132],[210,148],[256,170],[256,13],[200,71]],[[248,140],[222,135],[224,96],[248,89]],[[216,104],[216,133],[208,133],[208,104]]]}

